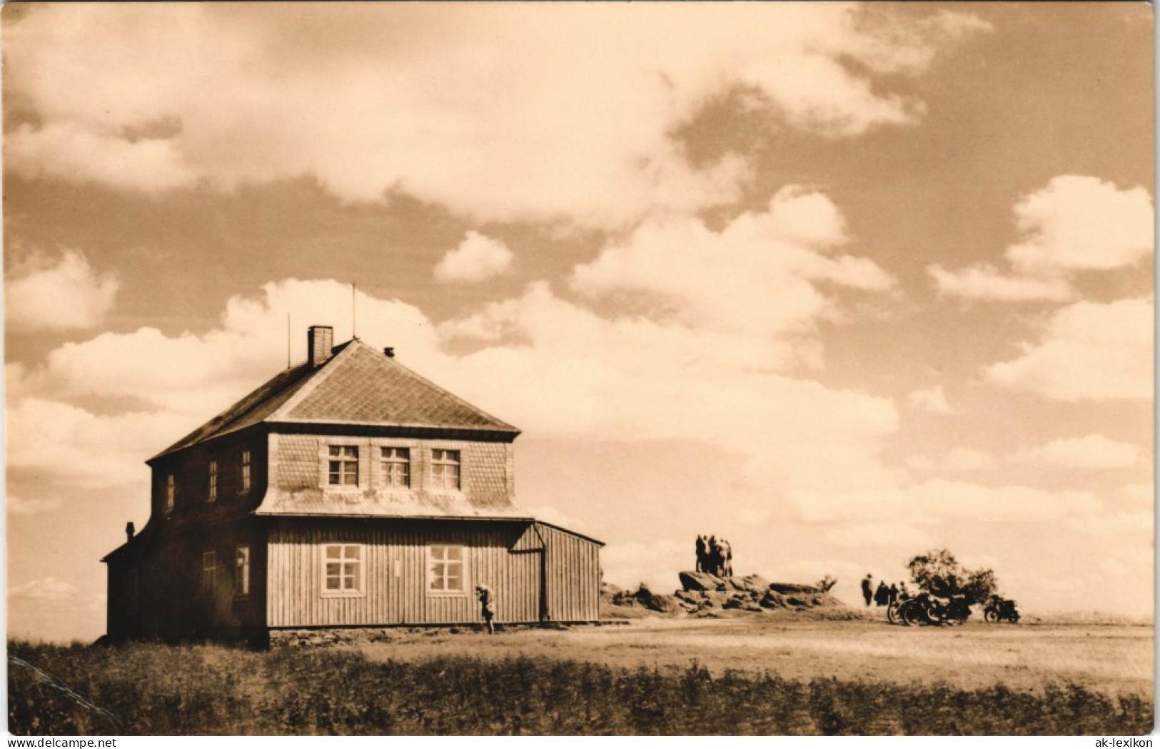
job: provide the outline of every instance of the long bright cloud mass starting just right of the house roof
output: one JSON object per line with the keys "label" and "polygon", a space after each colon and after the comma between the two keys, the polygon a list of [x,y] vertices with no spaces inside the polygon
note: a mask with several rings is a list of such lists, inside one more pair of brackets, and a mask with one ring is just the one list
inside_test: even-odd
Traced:
{"label": "long bright cloud mass starting just right of the house roof", "polygon": [[780,354],[761,339],[603,318],[546,284],[441,333],[486,343],[449,370],[457,392],[476,393],[539,434],[691,438],[741,455],[776,445],[795,456],[826,438],[839,456],[847,443],[871,443],[897,426],[886,399],[770,371]]}

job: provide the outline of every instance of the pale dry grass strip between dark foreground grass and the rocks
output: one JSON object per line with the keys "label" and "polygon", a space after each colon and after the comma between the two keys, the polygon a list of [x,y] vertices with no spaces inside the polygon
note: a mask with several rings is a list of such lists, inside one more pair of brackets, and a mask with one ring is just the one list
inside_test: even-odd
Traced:
{"label": "pale dry grass strip between dark foreground grass and the rocks", "polygon": [[880,620],[641,619],[566,632],[400,634],[362,646],[372,659],[421,660],[462,653],[585,660],[609,666],[684,668],[713,674],[769,671],[786,678],[833,676],[867,682],[947,683],[960,689],[1007,684],[1042,690],[1074,681],[1105,693],[1151,699],[1151,626],[901,627]]}

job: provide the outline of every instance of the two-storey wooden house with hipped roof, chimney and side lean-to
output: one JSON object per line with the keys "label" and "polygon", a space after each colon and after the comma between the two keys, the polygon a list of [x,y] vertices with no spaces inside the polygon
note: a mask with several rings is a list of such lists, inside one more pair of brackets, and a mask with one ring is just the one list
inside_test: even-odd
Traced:
{"label": "two-storey wooden house with hipped roof, chimney and side lean-to", "polygon": [[148,523],[108,565],[108,633],[262,641],[310,627],[599,618],[597,540],[513,502],[520,431],[355,339],[146,463]]}

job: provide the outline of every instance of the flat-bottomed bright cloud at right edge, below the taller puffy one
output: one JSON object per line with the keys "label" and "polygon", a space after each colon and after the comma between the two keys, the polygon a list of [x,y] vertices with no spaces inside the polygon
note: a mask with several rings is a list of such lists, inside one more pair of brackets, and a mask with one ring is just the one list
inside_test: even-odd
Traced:
{"label": "flat-bottomed bright cloud at right edge, below the taller puffy one", "polygon": [[1056,311],[1022,355],[987,380],[1063,401],[1152,398],[1151,299],[1079,301]]}

